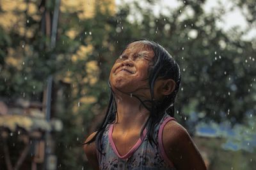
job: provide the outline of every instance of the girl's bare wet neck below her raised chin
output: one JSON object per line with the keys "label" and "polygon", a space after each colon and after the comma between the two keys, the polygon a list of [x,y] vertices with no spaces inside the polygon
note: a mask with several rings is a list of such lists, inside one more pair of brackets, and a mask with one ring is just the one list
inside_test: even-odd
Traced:
{"label": "girl's bare wet neck below her raised chin", "polygon": [[115,97],[118,118],[116,125],[122,131],[141,128],[147,122],[149,111],[134,96]]}

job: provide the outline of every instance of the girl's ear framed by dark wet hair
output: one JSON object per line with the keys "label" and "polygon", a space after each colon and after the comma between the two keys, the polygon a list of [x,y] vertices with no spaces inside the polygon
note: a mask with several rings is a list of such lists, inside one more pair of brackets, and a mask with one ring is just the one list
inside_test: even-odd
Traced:
{"label": "girl's ear framed by dark wet hair", "polygon": [[157,80],[155,84],[155,96],[161,98],[163,96],[168,96],[175,89],[176,83],[171,78],[166,80]]}

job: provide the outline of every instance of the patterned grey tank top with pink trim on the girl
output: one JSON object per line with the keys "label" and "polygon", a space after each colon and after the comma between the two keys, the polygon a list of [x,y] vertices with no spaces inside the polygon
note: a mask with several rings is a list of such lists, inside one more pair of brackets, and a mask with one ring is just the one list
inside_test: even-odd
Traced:
{"label": "patterned grey tank top with pink trim on the girl", "polygon": [[157,145],[150,145],[147,138],[147,129],[143,131],[142,138],[125,155],[120,155],[112,139],[113,124],[107,125],[100,143],[100,153],[97,150],[99,168],[105,169],[132,169],[132,170],[175,170],[173,163],[168,159],[163,147],[164,125],[175,118],[165,114],[154,130]]}

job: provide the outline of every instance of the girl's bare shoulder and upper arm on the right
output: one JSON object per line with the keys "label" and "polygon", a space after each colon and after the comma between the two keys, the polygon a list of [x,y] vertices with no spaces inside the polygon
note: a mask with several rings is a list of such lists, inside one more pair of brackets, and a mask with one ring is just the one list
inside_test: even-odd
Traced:
{"label": "girl's bare shoulder and upper arm on the right", "polygon": [[164,126],[163,145],[168,159],[177,170],[207,169],[188,131],[179,123],[170,121]]}

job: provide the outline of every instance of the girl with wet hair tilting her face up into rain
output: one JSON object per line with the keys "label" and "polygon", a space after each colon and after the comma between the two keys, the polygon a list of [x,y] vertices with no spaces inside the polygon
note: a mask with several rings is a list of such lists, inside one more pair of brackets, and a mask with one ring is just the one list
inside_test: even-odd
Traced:
{"label": "girl with wet hair tilting her face up into rain", "polygon": [[173,118],[180,68],[161,45],[130,43],[111,69],[109,86],[106,117],[84,143],[93,169],[206,169]]}

